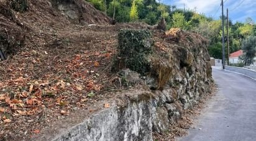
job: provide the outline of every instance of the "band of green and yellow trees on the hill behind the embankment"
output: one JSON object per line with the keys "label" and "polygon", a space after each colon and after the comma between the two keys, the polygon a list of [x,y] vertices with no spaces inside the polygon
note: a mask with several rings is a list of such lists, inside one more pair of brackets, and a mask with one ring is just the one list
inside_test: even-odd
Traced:
{"label": "band of green and yellow trees on the hill behind the embankment", "polygon": [[[107,15],[114,17],[118,22],[139,20],[155,25],[165,18],[167,30],[171,27],[198,32],[209,40],[208,51],[211,57],[222,59],[221,17],[214,20],[204,14],[191,9],[177,9],[176,6],[167,6],[155,0],[87,0]],[[100,5],[100,6],[99,6]],[[226,16],[224,17],[226,20]],[[225,21],[226,22],[226,21]],[[225,23],[226,24],[226,23]],[[227,32],[226,27],[224,28]],[[250,35],[255,35],[254,20],[247,18],[245,23],[229,20],[230,53],[242,49],[242,41]],[[227,37],[225,37],[227,40]],[[226,50],[227,57],[227,50]]]}

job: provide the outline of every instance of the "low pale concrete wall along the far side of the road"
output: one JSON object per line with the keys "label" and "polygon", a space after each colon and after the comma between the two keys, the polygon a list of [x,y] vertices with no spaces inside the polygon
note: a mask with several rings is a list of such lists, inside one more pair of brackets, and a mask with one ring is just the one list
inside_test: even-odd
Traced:
{"label": "low pale concrete wall along the far side of the road", "polygon": [[229,70],[229,71],[235,71],[237,73],[241,73],[243,75],[246,75],[246,76],[256,79],[256,71],[254,71],[254,70],[250,70],[247,68],[239,68],[239,67],[235,67],[235,66],[225,66],[225,69]]}

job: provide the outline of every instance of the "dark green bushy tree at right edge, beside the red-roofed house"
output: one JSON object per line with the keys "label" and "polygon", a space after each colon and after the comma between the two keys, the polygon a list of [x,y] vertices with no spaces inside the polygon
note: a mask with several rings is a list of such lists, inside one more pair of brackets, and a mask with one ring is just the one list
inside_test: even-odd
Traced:
{"label": "dark green bushy tree at right edge, beside the red-roofed house", "polygon": [[254,63],[254,58],[256,55],[256,37],[249,36],[242,42],[242,50],[244,55],[241,57],[245,65],[250,65]]}

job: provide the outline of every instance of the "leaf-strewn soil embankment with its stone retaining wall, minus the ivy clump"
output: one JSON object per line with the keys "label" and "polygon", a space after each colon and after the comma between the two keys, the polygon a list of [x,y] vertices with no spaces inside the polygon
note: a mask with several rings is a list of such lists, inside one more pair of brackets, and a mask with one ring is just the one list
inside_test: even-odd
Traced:
{"label": "leaf-strewn soil embankment with its stone retaining wall, minus the ivy clump", "polygon": [[211,90],[197,34],[150,30],[155,63],[113,72],[119,29],[149,25],[110,25],[85,1],[26,2],[0,1],[1,140],[152,140]]}

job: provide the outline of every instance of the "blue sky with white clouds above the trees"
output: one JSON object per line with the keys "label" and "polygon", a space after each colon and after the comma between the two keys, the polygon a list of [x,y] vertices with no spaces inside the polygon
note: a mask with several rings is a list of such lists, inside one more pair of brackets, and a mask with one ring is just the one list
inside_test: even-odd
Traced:
{"label": "blue sky with white clouds above the trees", "polygon": [[[178,8],[182,8],[182,9],[183,9],[183,4],[185,4],[186,9],[196,9],[197,12],[204,13],[206,14],[206,16],[211,16],[211,17],[214,16],[214,14],[217,12],[217,9],[221,5],[221,0],[160,0],[160,1],[168,5],[174,4]],[[229,18],[233,21],[233,23],[235,21],[244,22],[247,17],[251,17],[256,22],[256,0],[224,0],[224,1],[226,1],[224,3],[224,14],[226,15],[226,11],[228,8],[230,11]],[[214,19],[218,19],[219,16],[221,16],[221,8],[215,14]]]}

